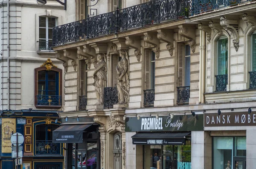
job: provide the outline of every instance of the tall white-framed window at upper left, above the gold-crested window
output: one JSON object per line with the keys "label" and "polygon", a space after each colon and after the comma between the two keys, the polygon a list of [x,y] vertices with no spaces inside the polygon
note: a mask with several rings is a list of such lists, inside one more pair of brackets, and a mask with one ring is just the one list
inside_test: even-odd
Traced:
{"label": "tall white-framed window at upper left, above the gold-crested window", "polygon": [[52,50],[52,28],[55,26],[55,17],[39,17],[39,50]]}

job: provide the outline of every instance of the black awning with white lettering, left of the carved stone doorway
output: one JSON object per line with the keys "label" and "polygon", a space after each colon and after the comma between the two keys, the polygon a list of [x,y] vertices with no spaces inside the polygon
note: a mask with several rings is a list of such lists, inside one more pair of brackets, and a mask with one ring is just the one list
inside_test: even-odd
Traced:
{"label": "black awning with white lettering, left of the carved stone doorway", "polygon": [[82,143],[83,131],[92,124],[62,125],[52,133],[53,143]]}

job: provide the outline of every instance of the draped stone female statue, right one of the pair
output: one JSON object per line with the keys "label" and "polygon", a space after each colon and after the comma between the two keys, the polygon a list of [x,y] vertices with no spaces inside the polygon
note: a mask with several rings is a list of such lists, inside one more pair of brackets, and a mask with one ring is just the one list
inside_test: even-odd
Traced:
{"label": "draped stone female statue, right one of the pair", "polygon": [[129,91],[130,91],[130,63],[128,58],[128,51],[119,50],[119,57],[122,59],[117,63],[117,90],[118,90],[118,101],[119,104],[128,106],[129,103]]}

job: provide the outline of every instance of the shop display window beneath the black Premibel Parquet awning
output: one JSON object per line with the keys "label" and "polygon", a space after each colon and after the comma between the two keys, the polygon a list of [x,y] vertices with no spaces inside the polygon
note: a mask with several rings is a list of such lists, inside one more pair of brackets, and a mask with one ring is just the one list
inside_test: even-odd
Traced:
{"label": "shop display window beneath the black Premibel Parquet awning", "polygon": [[144,169],[191,169],[191,139],[185,145],[144,145]]}

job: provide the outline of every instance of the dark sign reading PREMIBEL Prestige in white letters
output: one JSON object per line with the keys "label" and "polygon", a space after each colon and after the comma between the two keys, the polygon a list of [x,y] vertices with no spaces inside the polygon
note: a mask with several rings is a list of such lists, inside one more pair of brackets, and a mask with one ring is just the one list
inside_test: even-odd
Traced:
{"label": "dark sign reading PREMIBEL Prestige in white letters", "polygon": [[204,115],[126,117],[125,132],[203,131]]}

